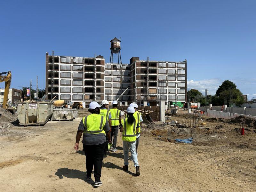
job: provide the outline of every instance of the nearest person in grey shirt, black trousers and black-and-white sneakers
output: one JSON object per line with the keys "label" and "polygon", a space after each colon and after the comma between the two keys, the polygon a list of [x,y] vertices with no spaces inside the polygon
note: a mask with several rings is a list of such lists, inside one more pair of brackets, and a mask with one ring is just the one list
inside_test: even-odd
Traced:
{"label": "nearest person in grey shirt, black trousers and black-and-white sneakers", "polygon": [[108,137],[108,142],[111,143],[110,138],[110,128],[108,121],[103,116],[100,116],[100,105],[92,101],[89,104],[89,112],[91,115],[85,116],[79,126],[76,133],[76,144],[75,150],[79,149],[79,141],[83,135],[83,147],[85,153],[85,164],[86,164],[86,180],[90,181],[92,175],[92,169],[94,167],[94,187],[100,187],[102,182],[101,168],[103,154],[105,150],[106,137]]}

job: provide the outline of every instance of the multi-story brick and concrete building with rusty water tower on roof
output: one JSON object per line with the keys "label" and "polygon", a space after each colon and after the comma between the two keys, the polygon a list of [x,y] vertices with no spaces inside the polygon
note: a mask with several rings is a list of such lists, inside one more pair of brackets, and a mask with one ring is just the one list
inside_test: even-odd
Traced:
{"label": "multi-story brick and concrete building with rusty water tower on roof", "polygon": [[[119,41],[120,47],[120,40],[113,40]],[[111,50],[112,61],[113,53]],[[100,55],[67,57],[46,53],[46,95],[48,99],[58,95],[56,99],[80,101],[86,105],[93,100],[112,101],[119,97],[118,102],[123,105],[142,104],[143,101],[150,105],[158,101],[166,101],[166,105],[183,104],[187,101],[187,61],[132,57],[130,64],[122,64],[106,63]]]}

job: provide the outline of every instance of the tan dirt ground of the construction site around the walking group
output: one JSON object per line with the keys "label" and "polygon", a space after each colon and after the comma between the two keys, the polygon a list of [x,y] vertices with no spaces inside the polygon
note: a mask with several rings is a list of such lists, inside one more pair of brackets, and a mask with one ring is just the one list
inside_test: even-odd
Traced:
{"label": "tan dirt ground of the construction site around the walking group", "polygon": [[[119,132],[118,151],[103,159],[103,185],[93,188],[85,180],[82,143],[74,150],[80,120],[9,127],[0,137],[0,191],[255,191],[256,133],[241,136],[238,125],[216,120],[206,122],[209,129],[144,126],[138,177],[131,159],[129,172],[122,171]],[[193,143],[165,137],[193,137]]]}

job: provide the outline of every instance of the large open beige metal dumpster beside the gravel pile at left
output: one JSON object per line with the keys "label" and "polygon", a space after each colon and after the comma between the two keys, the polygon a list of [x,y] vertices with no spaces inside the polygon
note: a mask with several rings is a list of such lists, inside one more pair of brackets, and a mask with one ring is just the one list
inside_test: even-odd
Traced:
{"label": "large open beige metal dumpster beside the gravel pile at left", "polygon": [[20,125],[44,125],[52,116],[51,102],[18,102]]}

